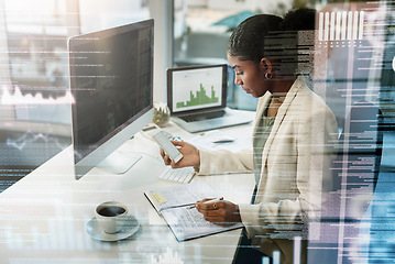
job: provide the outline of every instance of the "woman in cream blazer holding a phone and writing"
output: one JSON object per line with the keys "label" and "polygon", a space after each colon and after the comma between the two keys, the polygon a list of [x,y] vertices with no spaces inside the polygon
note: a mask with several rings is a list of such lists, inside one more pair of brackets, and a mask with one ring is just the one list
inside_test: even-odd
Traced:
{"label": "woman in cream blazer holding a phone and writing", "polygon": [[306,238],[308,222],[320,209],[322,180],[330,182],[326,173],[332,156],[326,147],[336,140],[338,128],[326,103],[303,77],[296,77],[295,64],[285,62],[281,22],[275,15],[249,18],[228,44],[234,84],[260,98],[253,151],[210,153],[173,142],[180,146],[184,158],[175,164],[163,151],[161,154],[165,164],[195,166],[199,175],[253,169],[256,190],[252,205],[204,200],[197,202],[197,209],[218,224],[242,222],[261,252],[272,256],[279,251],[282,263],[293,263],[293,239]]}

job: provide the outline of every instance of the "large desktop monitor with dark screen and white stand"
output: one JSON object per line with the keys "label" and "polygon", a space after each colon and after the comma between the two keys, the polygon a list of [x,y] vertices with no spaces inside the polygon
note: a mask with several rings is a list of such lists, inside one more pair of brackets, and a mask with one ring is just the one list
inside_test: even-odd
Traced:
{"label": "large desktop monitor with dark screen and white stand", "polygon": [[153,117],[154,22],[68,41],[75,176],[127,172],[141,156],[117,152]]}

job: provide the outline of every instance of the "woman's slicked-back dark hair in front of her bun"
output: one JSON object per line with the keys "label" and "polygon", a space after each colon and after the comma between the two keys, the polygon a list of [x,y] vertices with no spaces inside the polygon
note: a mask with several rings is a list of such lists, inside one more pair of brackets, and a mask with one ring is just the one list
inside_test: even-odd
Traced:
{"label": "woman's slicked-back dark hair in front of her bun", "polygon": [[265,56],[265,38],[279,31],[282,18],[256,14],[248,18],[233,31],[228,42],[228,54],[242,61],[260,62]]}

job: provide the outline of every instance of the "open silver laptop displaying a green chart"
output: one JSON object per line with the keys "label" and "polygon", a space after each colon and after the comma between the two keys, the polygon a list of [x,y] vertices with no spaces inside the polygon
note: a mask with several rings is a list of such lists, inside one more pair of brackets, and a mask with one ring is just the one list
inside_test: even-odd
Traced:
{"label": "open silver laptop displaying a green chart", "polygon": [[228,65],[167,69],[172,120],[188,132],[245,124],[251,118],[227,107]]}

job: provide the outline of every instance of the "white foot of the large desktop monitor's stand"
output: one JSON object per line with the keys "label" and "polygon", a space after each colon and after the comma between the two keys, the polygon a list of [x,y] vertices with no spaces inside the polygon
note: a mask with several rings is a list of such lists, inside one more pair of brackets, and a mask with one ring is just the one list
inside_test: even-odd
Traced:
{"label": "white foot of the large desktop monitor's stand", "polygon": [[112,174],[124,174],[141,158],[142,155],[139,153],[121,153],[114,151],[96,167]]}

